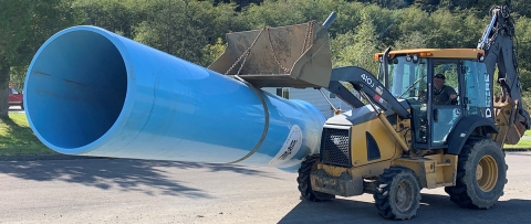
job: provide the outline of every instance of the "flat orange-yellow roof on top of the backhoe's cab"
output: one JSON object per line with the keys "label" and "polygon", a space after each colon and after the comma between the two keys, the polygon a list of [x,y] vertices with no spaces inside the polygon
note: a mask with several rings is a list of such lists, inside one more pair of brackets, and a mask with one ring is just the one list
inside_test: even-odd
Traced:
{"label": "flat orange-yellow roof on top of the backhoe's cab", "polygon": [[[472,58],[477,60],[479,56],[485,55],[483,50],[479,49],[409,49],[409,50],[398,50],[391,51],[389,57],[393,58],[396,55],[415,55],[419,57],[433,57],[433,58]],[[376,53],[374,55],[375,60],[378,60],[379,56],[384,53]]]}

